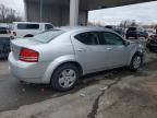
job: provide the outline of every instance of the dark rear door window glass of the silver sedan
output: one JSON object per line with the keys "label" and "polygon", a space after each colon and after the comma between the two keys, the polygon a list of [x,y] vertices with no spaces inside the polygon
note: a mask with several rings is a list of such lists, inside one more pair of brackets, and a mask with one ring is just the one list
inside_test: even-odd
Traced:
{"label": "dark rear door window glass of the silver sedan", "polygon": [[74,36],[74,38],[85,45],[98,45],[98,35],[95,32],[82,33]]}

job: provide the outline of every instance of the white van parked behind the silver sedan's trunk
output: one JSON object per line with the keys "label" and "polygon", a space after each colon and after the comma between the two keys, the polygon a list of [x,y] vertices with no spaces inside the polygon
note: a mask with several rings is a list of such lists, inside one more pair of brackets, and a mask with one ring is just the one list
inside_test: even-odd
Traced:
{"label": "white van parked behind the silver sedan's trunk", "polygon": [[51,23],[13,22],[11,38],[33,37],[44,31],[53,28]]}

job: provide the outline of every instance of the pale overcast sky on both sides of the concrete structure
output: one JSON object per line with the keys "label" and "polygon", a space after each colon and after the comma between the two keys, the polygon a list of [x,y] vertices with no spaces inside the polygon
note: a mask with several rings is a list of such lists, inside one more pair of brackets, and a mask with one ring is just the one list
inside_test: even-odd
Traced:
{"label": "pale overcast sky on both sides of the concrete structure", "polygon": [[[24,17],[23,0],[0,0],[0,3],[16,10]],[[96,10],[88,13],[88,21],[95,23],[114,25],[122,20],[136,20],[143,24],[157,23],[157,1]]]}

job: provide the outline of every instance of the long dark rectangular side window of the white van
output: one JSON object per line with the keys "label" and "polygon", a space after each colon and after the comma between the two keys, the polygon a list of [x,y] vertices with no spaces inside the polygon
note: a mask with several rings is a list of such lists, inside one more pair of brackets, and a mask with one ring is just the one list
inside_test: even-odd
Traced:
{"label": "long dark rectangular side window of the white van", "polygon": [[17,24],[19,30],[39,30],[39,24]]}

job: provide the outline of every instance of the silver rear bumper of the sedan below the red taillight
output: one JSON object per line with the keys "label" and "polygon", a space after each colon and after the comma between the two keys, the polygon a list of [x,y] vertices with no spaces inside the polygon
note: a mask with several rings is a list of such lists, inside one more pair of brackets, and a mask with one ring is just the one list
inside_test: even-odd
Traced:
{"label": "silver rear bumper of the sedan below the red taillight", "polygon": [[44,75],[48,62],[23,62],[16,60],[11,52],[9,56],[9,66],[11,73],[21,81],[28,83],[47,83],[44,81]]}

